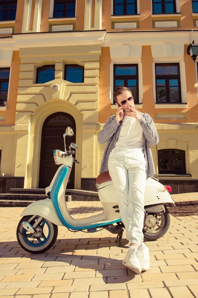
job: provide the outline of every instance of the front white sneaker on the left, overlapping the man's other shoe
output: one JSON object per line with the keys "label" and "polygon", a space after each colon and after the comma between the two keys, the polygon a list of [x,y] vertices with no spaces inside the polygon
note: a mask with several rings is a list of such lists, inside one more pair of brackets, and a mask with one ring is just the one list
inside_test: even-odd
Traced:
{"label": "front white sneaker on the left, overlapping the man's other shoe", "polygon": [[129,246],[128,252],[122,261],[122,264],[140,274],[142,272],[142,267],[139,250],[134,246]]}

